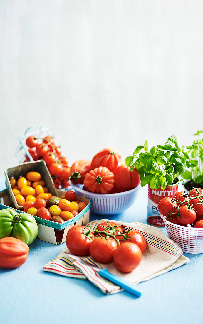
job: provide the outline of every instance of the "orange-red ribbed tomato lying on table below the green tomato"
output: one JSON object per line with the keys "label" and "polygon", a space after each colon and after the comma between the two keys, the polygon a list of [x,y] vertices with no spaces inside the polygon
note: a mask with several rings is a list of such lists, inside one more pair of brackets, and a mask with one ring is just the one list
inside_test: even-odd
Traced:
{"label": "orange-red ribbed tomato lying on table below the green tomato", "polygon": [[29,247],[15,237],[0,239],[0,267],[17,268],[27,260]]}

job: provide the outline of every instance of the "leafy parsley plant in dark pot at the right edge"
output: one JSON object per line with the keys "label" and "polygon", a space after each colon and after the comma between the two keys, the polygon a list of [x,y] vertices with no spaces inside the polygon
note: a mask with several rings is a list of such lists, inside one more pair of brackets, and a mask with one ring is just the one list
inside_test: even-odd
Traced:
{"label": "leafy parsley plant in dark pot at the right edge", "polygon": [[203,131],[197,131],[196,139],[186,149],[189,159],[186,161],[187,170],[183,174],[183,179],[189,180],[185,183],[187,191],[192,188],[203,188]]}

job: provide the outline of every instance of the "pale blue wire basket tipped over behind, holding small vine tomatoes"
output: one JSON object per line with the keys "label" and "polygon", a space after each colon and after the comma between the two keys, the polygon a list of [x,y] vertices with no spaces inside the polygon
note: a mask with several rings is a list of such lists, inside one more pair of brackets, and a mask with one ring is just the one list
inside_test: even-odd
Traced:
{"label": "pale blue wire basket tipped over behind, holding small vine tomatoes", "polygon": [[[51,131],[48,128],[45,128],[43,124],[38,124],[27,128],[25,134],[18,137],[20,144],[16,149],[15,156],[17,157],[19,163],[34,161],[26,145],[26,139],[28,136],[36,136],[39,138],[43,138],[48,135],[53,136]],[[27,161],[25,161],[26,158]]]}

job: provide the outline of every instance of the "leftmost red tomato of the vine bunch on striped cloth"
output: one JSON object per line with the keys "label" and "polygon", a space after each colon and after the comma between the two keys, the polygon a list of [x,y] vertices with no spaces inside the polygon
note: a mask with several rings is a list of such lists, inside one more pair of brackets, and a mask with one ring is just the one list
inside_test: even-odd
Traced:
{"label": "leftmost red tomato of the vine bunch on striped cloth", "polygon": [[78,256],[89,255],[90,244],[94,234],[88,227],[75,225],[71,227],[66,236],[66,246],[71,253]]}

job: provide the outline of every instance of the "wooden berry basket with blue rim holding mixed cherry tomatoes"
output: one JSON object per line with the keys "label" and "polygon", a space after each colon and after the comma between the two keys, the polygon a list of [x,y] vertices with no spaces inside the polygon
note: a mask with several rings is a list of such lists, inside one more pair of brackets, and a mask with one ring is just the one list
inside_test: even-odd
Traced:
{"label": "wooden berry basket with blue rim holding mixed cherry tomatoes", "polygon": [[[56,190],[56,195],[61,197],[64,194],[63,190]],[[74,225],[86,225],[90,219],[90,207],[91,201],[86,197],[76,195],[78,200],[86,203],[87,206],[75,217],[64,222],[56,223],[34,216],[39,229],[38,238],[42,241],[46,241],[52,244],[64,243],[66,241],[66,235],[69,229]],[[17,210],[12,204],[8,191],[5,189],[0,191],[0,210],[5,208],[13,208],[18,213],[24,213],[23,211]]]}

